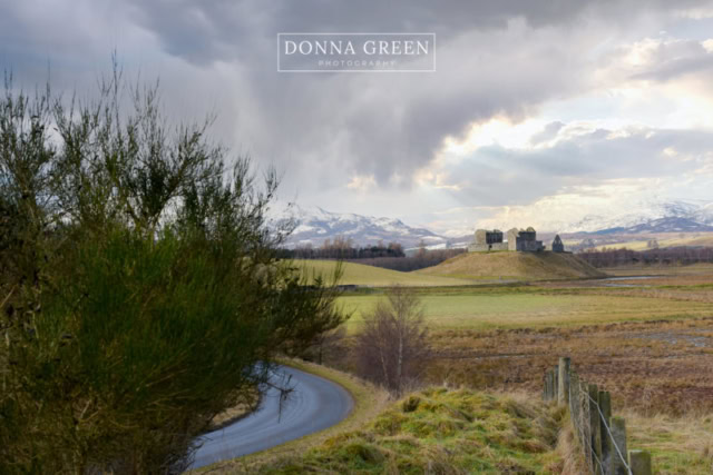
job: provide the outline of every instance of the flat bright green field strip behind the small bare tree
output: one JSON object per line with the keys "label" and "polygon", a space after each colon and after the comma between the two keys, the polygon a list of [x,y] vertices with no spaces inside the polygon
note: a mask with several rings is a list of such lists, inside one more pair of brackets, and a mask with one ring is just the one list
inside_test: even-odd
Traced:
{"label": "flat bright green field strip behind the small bare tree", "polygon": [[[380,295],[343,296],[339,303],[353,313],[348,326],[359,328],[362,315],[382,298]],[[432,328],[524,328],[590,325],[613,321],[652,320],[710,316],[711,304],[655,300],[599,294],[572,293],[424,293],[426,321]]]}

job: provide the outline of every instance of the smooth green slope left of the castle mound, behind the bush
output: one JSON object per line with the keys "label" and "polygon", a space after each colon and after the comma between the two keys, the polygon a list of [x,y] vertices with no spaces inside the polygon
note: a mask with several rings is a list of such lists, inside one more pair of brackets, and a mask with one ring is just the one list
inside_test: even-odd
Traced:
{"label": "smooth green slope left of the castle mound, behind the bush", "polygon": [[[336,261],[334,260],[295,260],[295,265],[310,276],[322,275],[330,278],[334,274]],[[342,264],[342,285],[359,285],[367,287],[388,287],[394,284],[409,287],[438,287],[472,285],[469,279],[441,277],[418,273],[400,273],[398,270],[383,269],[381,267],[364,266],[362,264]]]}

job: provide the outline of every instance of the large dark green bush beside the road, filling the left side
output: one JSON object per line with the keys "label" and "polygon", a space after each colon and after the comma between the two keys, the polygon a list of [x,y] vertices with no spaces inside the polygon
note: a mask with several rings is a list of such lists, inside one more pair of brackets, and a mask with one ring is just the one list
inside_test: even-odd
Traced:
{"label": "large dark green bush beside the road, filling the left side", "polygon": [[66,106],[6,82],[0,473],[180,471],[275,355],[342,323],[334,289],[275,258],[274,171],[170,129],[156,88],[115,72]]}

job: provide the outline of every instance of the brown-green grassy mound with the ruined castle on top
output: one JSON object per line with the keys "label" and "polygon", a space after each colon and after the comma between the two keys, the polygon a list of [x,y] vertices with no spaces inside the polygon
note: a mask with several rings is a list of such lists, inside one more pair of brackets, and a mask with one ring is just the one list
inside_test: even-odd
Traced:
{"label": "brown-green grassy mound with the ruined castle on top", "polygon": [[573,254],[466,253],[418,274],[461,279],[548,280],[603,277]]}

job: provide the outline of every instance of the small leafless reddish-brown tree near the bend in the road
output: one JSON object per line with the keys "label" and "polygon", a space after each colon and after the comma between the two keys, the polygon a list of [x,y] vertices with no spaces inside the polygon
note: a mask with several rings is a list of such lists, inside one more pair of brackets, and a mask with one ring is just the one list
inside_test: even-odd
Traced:
{"label": "small leafless reddish-brown tree near the bend in the road", "polygon": [[400,396],[422,375],[431,355],[423,306],[413,290],[393,287],[364,316],[354,350],[363,377]]}

